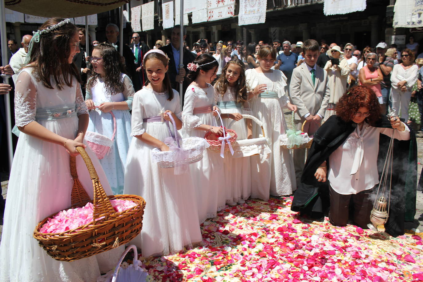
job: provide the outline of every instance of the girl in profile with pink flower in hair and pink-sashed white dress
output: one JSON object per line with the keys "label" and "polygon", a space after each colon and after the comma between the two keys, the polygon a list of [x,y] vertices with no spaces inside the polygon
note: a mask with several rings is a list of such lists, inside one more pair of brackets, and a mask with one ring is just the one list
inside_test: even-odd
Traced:
{"label": "girl in profile with pink flower in hair and pink-sashed white dress", "polygon": [[[214,89],[211,82],[216,78],[219,64],[208,54],[199,55],[188,64],[192,80],[185,92],[184,110],[182,112],[183,137],[202,137],[211,131],[222,135],[223,129],[217,126],[214,103]],[[204,150],[200,162],[190,164],[198,200],[198,216],[200,222],[216,217],[217,211],[225,208],[226,192],[229,183],[225,182],[223,159],[219,153]]]}

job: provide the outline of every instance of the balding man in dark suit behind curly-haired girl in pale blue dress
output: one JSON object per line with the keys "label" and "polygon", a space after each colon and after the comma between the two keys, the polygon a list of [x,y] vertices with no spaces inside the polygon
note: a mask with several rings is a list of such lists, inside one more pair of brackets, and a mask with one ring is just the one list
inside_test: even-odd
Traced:
{"label": "balding man in dark suit behind curly-haired girl in pale blue dress", "polygon": [[[119,44],[118,41],[119,36],[119,27],[115,24],[108,24],[106,25],[106,37],[107,41],[105,43],[113,44],[117,46],[117,50],[119,52]],[[125,66],[126,72],[128,73],[129,77],[132,79],[132,83],[134,84],[135,91],[140,90],[140,83],[138,81],[138,76],[135,72],[135,57],[132,53],[131,49],[127,45],[123,45],[123,57],[125,58]]]}

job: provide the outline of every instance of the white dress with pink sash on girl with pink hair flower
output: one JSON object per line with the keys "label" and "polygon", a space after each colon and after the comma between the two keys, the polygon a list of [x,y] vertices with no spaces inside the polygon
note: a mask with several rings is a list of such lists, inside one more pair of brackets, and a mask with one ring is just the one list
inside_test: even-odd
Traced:
{"label": "white dress with pink sash on girl with pink hair flower", "polygon": [[[182,112],[182,134],[184,138],[195,136],[204,138],[207,131],[195,129],[202,124],[218,126],[211,110],[215,106],[214,88],[207,84],[207,88],[188,86],[184,98]],[[220,153],[204,150],[200,162],[190,164],[192,180],[198,201],[198,216],[200,222],[216,217],[217,211],[225,208],[226,188],[223,159]]]}

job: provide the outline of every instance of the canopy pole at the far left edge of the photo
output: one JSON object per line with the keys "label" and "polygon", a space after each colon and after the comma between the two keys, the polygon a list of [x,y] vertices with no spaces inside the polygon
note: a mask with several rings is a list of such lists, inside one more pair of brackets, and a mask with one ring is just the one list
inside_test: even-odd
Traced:
{"label": "canopy pole at the far left edge of the photo", "polygon": [[[0,33],[1,33],[1,51],[2,51],[2,66],[7,65],[8,62],[8,47],[7,47],[7,34],[6,34],[6,15],[4,0],[0,0]],[[10,75],[2,74],[3,83],[9,84]],[[9,172],[12,169],[13,162],[13,145],[12,145],[12,119],[10,110],[10,93],[4,95],[4,107],[6,110],[6,132],[7,132],[7,149],[8,149],[8,160],[9,160]]]}

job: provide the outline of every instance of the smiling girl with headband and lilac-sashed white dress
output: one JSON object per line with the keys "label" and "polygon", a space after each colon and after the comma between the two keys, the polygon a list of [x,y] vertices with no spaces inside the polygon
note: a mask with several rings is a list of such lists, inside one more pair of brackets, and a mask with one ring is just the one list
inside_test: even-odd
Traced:
{"label": "smiling girl with headband and lilac-sashed white dress", "polygon": [[151,161],[155,147],[169,151],[163,142],[170,137],[167,113],[176,121],[177,129],[182,127],[179,94],[171,88],[167,73],[168,57],[159,49],[151,49],[144,55],[143,66],[148,85],[134,96],[131,135],[135,138],[126,161],[124,194],[146,200],[143,230],[131,243],[140,246],[143,257],[148,257],[179,252],[202,238],[191,176],[174,175],[173,167],[160,168]]}

